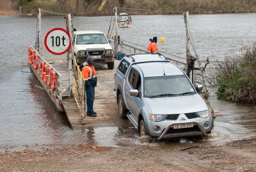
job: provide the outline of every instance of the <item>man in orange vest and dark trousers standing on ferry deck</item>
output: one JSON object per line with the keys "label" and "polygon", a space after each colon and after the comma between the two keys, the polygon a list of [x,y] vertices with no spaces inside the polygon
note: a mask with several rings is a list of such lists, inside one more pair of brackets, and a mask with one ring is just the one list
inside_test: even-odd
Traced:
{"label": "man in orange vest and dark trousers standing on ferry deck", "polygon": [[84,88],[86,91],[87,116],[96,117],[97,113],[93,111],[93,101],[95,98],[95,86],[97,85],[96,71],[93,67],[94,59],[88,56],[87,61],[83,63],[82,75],[84,77]]}

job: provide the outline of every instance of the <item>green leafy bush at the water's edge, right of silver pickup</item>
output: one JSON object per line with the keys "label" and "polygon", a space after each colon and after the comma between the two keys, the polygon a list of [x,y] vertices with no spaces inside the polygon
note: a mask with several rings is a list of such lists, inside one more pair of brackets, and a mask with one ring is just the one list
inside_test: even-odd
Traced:
{"label": "green leafy bush at the water's edge, right of silver pickup", "polygon": [[218,63],[215,77],[216,95],[232,102],[256,103],[256,43],[244,47],[241,55],[228,57]]}

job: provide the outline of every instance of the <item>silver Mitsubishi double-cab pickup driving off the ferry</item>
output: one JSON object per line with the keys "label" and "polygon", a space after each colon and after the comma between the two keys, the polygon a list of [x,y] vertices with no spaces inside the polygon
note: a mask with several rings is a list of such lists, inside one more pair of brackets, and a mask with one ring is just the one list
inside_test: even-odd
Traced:
{"label": "silver Mitsubishi double-cab pickup driving off the ferry", "polygon": [[118,113],[141,135],[201,136],[213,127],[212,114],[187,75],[161,54],[125,56],[115,74]]}

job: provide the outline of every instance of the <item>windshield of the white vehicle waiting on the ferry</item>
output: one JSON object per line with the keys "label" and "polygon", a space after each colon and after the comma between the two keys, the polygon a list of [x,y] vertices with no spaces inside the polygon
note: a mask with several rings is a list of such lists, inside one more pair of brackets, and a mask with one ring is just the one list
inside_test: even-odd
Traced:
{"label": "windshield of the white vehicle waiting on the ferry", "polygon": [[108,43],[104,34],[81,34],[76,36],[76,45],[93,44],[93,43]]}

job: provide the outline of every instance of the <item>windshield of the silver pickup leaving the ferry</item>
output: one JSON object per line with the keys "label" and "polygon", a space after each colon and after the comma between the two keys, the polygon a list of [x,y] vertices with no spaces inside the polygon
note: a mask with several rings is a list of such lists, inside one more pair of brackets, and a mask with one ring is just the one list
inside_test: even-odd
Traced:
{"label": "windshield of the silver pickup leaving the ferry", "polygon": [[144,97],[193,95],[195,90],[185,75],[144,78]]}

